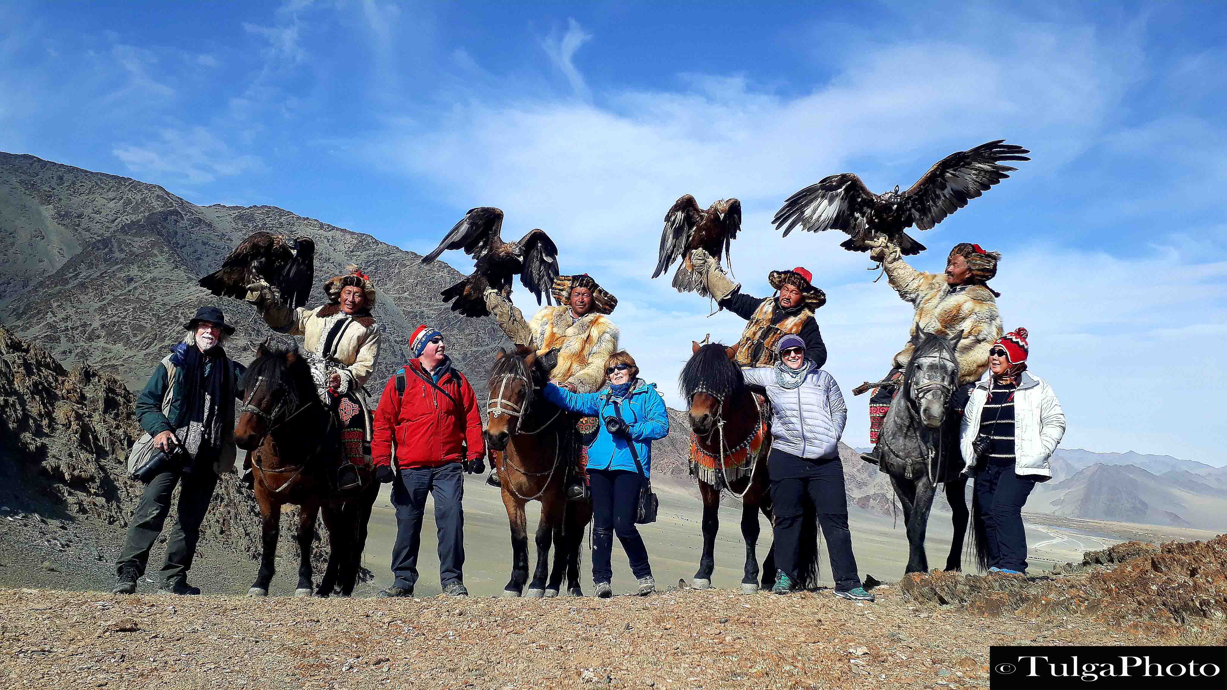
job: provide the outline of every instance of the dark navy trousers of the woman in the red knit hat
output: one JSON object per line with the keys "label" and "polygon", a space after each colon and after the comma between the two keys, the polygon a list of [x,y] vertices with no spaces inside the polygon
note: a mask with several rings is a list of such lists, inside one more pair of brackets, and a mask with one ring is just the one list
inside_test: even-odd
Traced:
{"label": "dark navy trousers of the woman in the red knit hat", "polygon": [[1036,480],[1015,474],[1012,464],[987,463],[975,473],[975,500],[988,534],[989,567],[1027,570],[1022,506],[1034,487]]}

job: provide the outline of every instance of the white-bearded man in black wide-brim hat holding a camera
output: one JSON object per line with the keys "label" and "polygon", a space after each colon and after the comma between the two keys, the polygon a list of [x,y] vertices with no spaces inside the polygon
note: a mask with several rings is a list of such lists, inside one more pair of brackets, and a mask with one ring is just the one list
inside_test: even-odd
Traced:
{"label": "white-bearded man in black wide-brim hat holding a camera", "polygon": [[[244,367],[222,349],[234,327],[217,307],[200,307],[183,329],[183,341],[158,362],[136,398],[136,420],[145,430],[136,446],[152,446],[150,452],[174,459],[148,479],[133,513],[124,549],[115,560],[119,583],[112,592],[117,594],[136,592],[136,581],[145,575],[150,550],[171,512],[175,485],[180,485],[179,513],[166,544],[161,588],[200,594],[188,584],[200,523],[217,476],[234,469],[234,401],[243,394],[238,381]],[[137,454],[135,448],[133,454]]]}

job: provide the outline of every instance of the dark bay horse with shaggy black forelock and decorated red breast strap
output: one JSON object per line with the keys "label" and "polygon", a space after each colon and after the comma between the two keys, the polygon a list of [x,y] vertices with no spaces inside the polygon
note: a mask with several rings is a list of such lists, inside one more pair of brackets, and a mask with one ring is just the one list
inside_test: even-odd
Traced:
{"label": "dark bay horse with shaggy black forelock and decorated red breast strap", "polygon": [[[698,479],[703,498],[703,554],[691,586],[694,589],[712,586],[715,535],[720,528],[720,495],[728,490],[741,501],[741,537],[746,541],[741,592],[750,594],[760,587],[771,587],[775,581],[775,545],[767,550],[761,572],[756,552],[758,513],[767,518],[768,525],[772,524],[771,479],[767,473],[771,409],[766,397],[760,397],[746,386],[741,368],[734,362],[735,356],[735,347],[692,341],[691,359],[679,377],[690,405],[691,474]],[[736,465],[729,467],[730,460]],[[817,586],[818,565],[817,523],[812,508],[806,507],[801,524],[801,554],[798,559],[801,573],[798,584],[812,588]]]}

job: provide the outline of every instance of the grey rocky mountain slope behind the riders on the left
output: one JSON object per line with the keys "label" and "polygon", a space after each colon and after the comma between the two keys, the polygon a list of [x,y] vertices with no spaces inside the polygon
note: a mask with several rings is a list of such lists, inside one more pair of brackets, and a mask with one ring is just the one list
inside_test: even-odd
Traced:
{"label": "grey rocky mountain slope behind the riders on the left", "polygon": [[196,280],[258,230],[315,241],[312,306],[346,264],[371,275],[384,328],[374,397],[407,359],[420,323],[448,334],[459,367],[485,390],[487,362],[506,339],[493,320],[466,319],[439,301],[460,279],[447,264],[423,266],[412,252],[275,206],[196,206],[155,184],[34,156],[0,153],[0,323],[63,362],[91,362],[135,388],[182,338],[183,320],[216,303],[239,329],[232,355],[247,361],[269,328],[250,306],[215,298]]}

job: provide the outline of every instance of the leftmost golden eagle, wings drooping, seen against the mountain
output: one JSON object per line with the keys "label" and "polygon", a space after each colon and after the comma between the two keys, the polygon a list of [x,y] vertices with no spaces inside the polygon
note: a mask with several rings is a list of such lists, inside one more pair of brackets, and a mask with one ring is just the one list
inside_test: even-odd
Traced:
{"label": "leftmost golden eagle, wings drooping, seen against the mountain", "polygon": [[200,286],[218,297],[243,300],[247,286],[261,280],[281,304],[291,309],[304,306],[315,281],[315,242],[256,232],[226,257],[220,270],[200,279]]}

